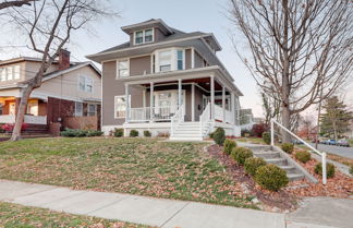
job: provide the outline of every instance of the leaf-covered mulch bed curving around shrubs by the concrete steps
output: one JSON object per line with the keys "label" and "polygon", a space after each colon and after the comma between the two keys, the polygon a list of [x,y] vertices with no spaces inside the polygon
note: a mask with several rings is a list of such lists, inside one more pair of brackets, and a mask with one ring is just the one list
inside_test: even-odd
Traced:
{"label": "leaf-covered mulch bed curving around shrubs by the concrete steps", "polygon": [[[242,183],[244,190],[248,191],[248,194],[255,195],[263,203],[263,209],[265,211],[290,212],[299,207],[297,202],[303,196],[349,197],[353,191],[353,179],[336,169],[334,178],[328,179],[326,185],[322,185],[320,182],[311,183],[307,180],[300,180],[291,182],[287,188],[278,192],[271,192],[256,184],[253,178],[245,173],[244,167],[239,166],[230,156],[222,152],[222,147],[215,144],[209,146],[207,151],[226,167],[227,172],[231,175],[235,182]],[[321,177],[314,173],[316,164],[317,161],[312,159],[302,165],[320,180]]]}

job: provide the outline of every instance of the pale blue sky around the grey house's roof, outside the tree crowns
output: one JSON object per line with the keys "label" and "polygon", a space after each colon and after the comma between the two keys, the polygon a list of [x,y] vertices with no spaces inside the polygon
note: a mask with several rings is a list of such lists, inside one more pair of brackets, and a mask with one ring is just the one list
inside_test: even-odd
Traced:
{"label": "pale blue sky around the grey house's roof, outside the tree crowns", "polygon": [[[252,108],[255,116],[263,116],[256,83],[238,58],[231,41],[230,34],[234,34],[238,39],[241,36],[226,16],[228,2],[229,0],[110,0],[114,9],[121,12],[120,17],[94,23],[89,33],[75,32],[68,49],[72,52],[72,60],[86,61],[87,55],[126,41],[129,36],[120,29],[121,26],[149,19],[162,19],[168,25],[184,32],[214,33],[223,48],[217,55],[244,94],[241,97],[242,108]],[[13,35],[11,31],[11,27],[1,26],[0,47],[23,45],[23,36]],[[238,45],[241,48],[245,47],[243,44]],[[244,51],[247,50],[244,48]],[[11,48],[0,51],[0,59],[20,55],[34,56],[23,48]],[[353,85],[351,87],[353,88]],[[352,97],[353,95],[346,97],[351,105]],[[313,112],[313,109],[306,113]]]}

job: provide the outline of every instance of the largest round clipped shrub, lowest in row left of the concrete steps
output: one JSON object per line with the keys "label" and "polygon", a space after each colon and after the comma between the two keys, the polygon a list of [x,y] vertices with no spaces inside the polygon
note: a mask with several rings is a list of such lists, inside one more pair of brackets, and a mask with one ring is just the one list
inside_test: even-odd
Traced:
{"label": "largest round clipped shrub, lowest in row left of the concrete steps", "polygon": [[289,182],[287,172],[272,164],[259,167],[255,173],[255,181],[270,191],[278,191]]}

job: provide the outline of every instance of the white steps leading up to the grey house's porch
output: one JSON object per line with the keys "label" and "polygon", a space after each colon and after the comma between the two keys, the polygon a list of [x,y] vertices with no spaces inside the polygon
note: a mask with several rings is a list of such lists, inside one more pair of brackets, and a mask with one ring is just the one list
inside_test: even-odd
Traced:
{"label": "white steps leading up to the grey house's porch", "polygon": [[180,123],[173,135],[170,136],[171,141],[203,141],[199,122],[183,122]]}

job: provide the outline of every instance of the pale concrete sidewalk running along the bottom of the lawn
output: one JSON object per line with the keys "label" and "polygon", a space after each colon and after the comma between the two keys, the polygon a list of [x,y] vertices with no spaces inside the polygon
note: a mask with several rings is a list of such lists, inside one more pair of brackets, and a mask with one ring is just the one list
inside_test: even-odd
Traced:
{"label": "pale concrete sidewalk running along the bottom of the lawn", "polygon": [[[285,221],[285,215],[279,213],[7,180],[0,180],[0,201],[161,228],[327,227],[297,219],[303,216],[301,213]],[[311,221],[317,224],[315,219]]]}

